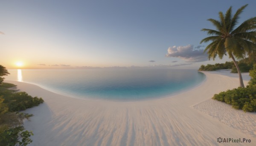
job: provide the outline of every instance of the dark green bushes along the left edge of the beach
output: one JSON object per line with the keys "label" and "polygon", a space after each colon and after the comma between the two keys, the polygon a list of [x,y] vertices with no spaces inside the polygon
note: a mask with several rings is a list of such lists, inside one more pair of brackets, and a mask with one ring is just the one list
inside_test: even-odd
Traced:
{"label": "dark green bushes along the left edge of the beach", "polygon": [[[0,76],[9,74],[5,67],[0,65],[1,68]],[[33,133],[25,130],[22,125],[24,119],[29,120],[33,115],[20,111],[44,102],[42,98],[32,97],[26,92],[8,89],[15,86],[2,81],[0,84],[0,146],[26,146],[31,143],[32,140],[29,137]]]}

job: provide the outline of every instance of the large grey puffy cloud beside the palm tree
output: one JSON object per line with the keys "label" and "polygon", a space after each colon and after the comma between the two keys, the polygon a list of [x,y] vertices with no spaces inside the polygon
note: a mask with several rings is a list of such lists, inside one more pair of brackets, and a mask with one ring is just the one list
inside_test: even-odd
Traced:
{"label": "large grey puffy cloud beside the palm tree", "polygon": [[193,45],[173,46],[168,48],[166,57],[178,57],[186,62],[202,62],[208,60],[208,55],[202,49],[193,49]]}

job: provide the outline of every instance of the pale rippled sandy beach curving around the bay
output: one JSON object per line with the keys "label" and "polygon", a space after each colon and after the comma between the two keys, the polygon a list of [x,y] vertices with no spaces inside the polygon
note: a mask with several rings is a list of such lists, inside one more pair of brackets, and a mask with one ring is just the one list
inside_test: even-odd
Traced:
{"label": "pale rippled sandy beach curving around the bay", "polygon": [[[255,146],[255,113],[207,103],[213,94],[238,87],[238,77],[204,74],[207,80],[195,89],[140,102],[81,100],[28,83],[6,82],[45,101],[25,111],[35,115],[24,123],[34,133],[32,146]],[[251,143],[218,143],[218,137],[247,138]]]}

